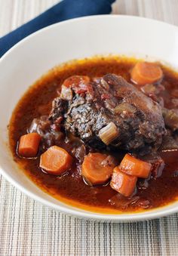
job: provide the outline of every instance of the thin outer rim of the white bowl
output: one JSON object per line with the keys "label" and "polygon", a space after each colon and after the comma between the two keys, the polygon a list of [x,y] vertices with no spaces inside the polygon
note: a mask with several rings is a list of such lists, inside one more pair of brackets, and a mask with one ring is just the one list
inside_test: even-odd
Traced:
{"label": "thin outer rim of the white bowl", "polygon": [[[118,15],[118,14],[103,14],[103,15],[93,15],[93,16],[86,16],[86,17],[77,17],[70,20],[64,20],[59,23],[54,23],[50,26],[46,26],[42,29],[39,29],[36,32],[33,32],[31,35],[26,36],[26,38],[22,39],[20,42],[18,42],[16,45],[14,45],[11,49],[9,49],[1,58],[0,63],[5,60],[6,57],[8,57],[12,51],[14,51],[16,48],[19,48],[21,45],[23,45],[23,42],[27,42],[28,40],[32,39],[35,35],[38,35],[48,29],[54,28],[55,26],[65,26],[66,23],[75,23],[75,22],[82,22],[83,20],[101,20],[101,19],[130,19],[130,20],[143,20],[144,22],[149,22],[152,24],[158,23],[161,26],[169,26],[173,27],[174,29],[178,30],[178,27],[169,23],[165,23],[160,20],[153,20],[146,17],[137,17],[137,16],[131,16],[131,15]],[[169,205],[166,205],[164,207],[155,208],[151,211],[140,211],[138,213],[127,213],[127,214],[100,214],[94,211],[81,211],[83,209],[81,208],[67,208],[67,205],[57,205],[53,202],[49,202],[48,199],[42,199],[41,196],[35,195],[35,193],[32,193],[26,187],[21,186],[18,181],[15,181],[10,174],[8,174],[1,166],[0,162],[0,174],[2,174],[3,177],[5,177],[6,180],[8,180],[14,187],[16,187],[21,192],[25,193],[26,196],[31,197],[35,201],[41,202],[43,205],[46,205],[50,208],[54,208],[57,211],[63,212],[64,214],[69,214],[75,217],[84,218],[87,220],[94,220],[94,221],[109,221],[109,222],[133,222],[133,221],[147,221],[150,219],[158,218],[158,217],[164,217],[169,214],[176,213],[178,211],[178,205],[172,206],[172,208],[168,208],[168,206],[173,205],[173,203],[170,203]],[[30,179],[29,179],[30,180]],[[36,186],[36,185],[35,185]],[[37,186],[38,187],[38,186]],[[71,206],[71,205],[70,205]],[[159,210],[159,211],[158,211]]]}

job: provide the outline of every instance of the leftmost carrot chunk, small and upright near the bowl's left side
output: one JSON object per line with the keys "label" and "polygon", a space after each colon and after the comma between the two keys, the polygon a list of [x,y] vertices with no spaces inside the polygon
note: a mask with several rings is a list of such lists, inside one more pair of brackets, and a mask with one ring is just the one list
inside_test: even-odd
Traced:
{"label": "leftmost carrot chunk, small and upright near the bowl's left side", "polygon": [[34,157],[38,153],[41,136],[35,132],[20,137],[18,153],[24,157]]}

